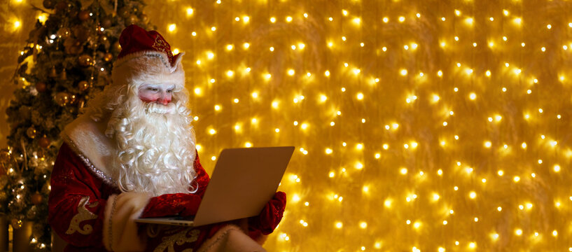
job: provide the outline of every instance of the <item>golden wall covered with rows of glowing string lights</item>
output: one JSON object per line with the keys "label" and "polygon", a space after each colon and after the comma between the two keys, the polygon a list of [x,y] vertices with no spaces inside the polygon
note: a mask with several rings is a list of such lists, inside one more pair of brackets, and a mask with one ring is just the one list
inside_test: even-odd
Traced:
{"label": "golden wall covered with rows of glowing string lights", "polygon": [[148,3],[209,172],[296,146],[269,251],[572,251],[571,1]]}

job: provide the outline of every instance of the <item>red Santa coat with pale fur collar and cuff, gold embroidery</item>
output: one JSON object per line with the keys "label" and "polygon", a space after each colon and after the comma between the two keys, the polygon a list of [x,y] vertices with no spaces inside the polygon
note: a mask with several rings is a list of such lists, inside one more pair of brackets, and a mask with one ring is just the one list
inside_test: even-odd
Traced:
{"label": "red Santa coat with pale fur collar and cuff, gold embroidery", "polygon": [[[95,123],[82,116],[68,125],[62,134],[65,143],[52,172],[48,221],[57,235],[68,242],[65,251],[107,251],[106,248],[145,251],[192,248],[197,251],[201,245],[213,246],[209,242],[216,240],[215,234],[225,235],[229,230],[238,229],[228,223],[198,228],[127,223],[137,216],[196,214],[209,175],[196,155],[197,177],[193,183],[198,187],[195,193],[151,198],[121,193],[107,175],[110,173],[106,172],[109,167],[106,157],[113,152],[109,140],[101,133],[103,128],[104,123]],[[260,216],[249,218],[249,235],[256,239],[272,232],[281,220],[285,203],[284,193],[277,193]]]}

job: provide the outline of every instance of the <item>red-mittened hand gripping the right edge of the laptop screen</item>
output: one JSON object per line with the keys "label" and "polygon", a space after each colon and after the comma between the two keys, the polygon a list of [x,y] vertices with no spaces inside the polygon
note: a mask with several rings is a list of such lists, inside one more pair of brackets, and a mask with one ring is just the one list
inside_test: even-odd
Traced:
{"label": "red-mittened hand gripping the right edge of the laptop screen", "polygon": [[284,209],[286,208],[286,193],[277,192],[272,197],[258,216],[249,218],[249,229],[259,230],[264,235],[268,235],[274,231],[274,228],[282,220]]}

